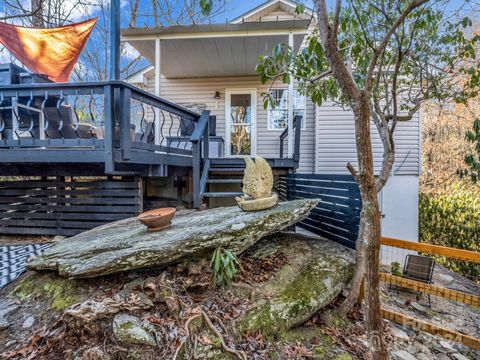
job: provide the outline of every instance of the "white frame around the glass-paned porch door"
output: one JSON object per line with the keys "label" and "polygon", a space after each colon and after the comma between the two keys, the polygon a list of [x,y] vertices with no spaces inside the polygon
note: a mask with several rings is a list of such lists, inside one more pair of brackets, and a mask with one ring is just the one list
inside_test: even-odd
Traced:
{"label": "white frame around the glass-paned porch door", "polygon": [[241,88],[241,89],[225,89],[225,157],[244,157],[245,155],[232,155],[230,149],[230,107],[231,95],[250,94],[251,96],[251,145],[250,156],[257,155],[257,89]]}

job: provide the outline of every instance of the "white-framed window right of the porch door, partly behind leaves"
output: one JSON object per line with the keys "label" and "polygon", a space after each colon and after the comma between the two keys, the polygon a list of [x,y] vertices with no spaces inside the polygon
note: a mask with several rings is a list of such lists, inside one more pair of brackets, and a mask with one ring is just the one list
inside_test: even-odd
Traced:
{"label": "white-framed window right of the porch door, partly behind leaves", "polygon": [[[270,94],[275,101],[275,107],[268,109],[268,129],[285,129],[288,124],[288,89],[273,89]],[[305,96],[298,90],[293,90],[293,116],[302,116],[302,129],[305,129],[307,102]]]}

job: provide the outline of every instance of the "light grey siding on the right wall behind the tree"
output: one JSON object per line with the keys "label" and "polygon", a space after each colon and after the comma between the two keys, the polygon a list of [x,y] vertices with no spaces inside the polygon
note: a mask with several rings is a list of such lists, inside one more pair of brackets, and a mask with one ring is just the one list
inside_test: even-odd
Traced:
{"label": "light grey siding on the right wall behind the tree", "polygon": [[[346,164],[357,165],[355,129],[351,111],[326,102],[317,108],[316,164],[319,174],[346,174]],[[371,124],[375,173],[382,164],[383,146],[375,125]],[[394,133],[396,175],[418,175],[420,169],[420,116],[399,122]]]}

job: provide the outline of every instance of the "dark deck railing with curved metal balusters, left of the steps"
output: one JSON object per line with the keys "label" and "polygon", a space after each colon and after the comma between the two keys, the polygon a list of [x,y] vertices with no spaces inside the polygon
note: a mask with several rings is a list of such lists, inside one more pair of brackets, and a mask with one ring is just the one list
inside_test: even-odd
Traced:
{"label": "dark deck railing with curved metal balusters, left of the steps", "polygon": [[[81,102],[84,115],[82,123],[78,118],[79,97],[84,99]],[[197,127],[196,125],[201,117],[194,111],[138,89],[124,81],[0,86],[0,99],[2,101],[7,100],[8,106],[13,109],[12,113],[17,108],[26,108],[24,103],[30,104],[33,101],[32,99],[35,99],[36,105],[31,104],[31,106],[38,108],[37,112],[39,113],[39,115],[35,113],[36,118],[31,119],[27,118],[27,115],[23,115],[22,119],[13,116],[10,118],[9,115],[6,119],[2,118],[2,122],[0,122],[2,128],[0,149],[2,151],[7,149],[9,152],[7,153],[7,150],[3,151],[5,157],[2,157],[2,162],[20,162],[17,159],[21,159],[21,155],[15,153],[18,149],[28,148],[29,151],[36,151],[32,149],[34,147],[50,150],[63,145],[67,150],[82,152],[85,152],[85,150],[103,150],[106,174],[115,174],[118,163],[143,161],[140,162],[143,164],[146,161],[143,157],[144,154],[151,156],[155,165],[163,161],[162,156],[165,153],[192,156],[193,151],[186,149],[190,136],[184,141],[183,149],[180,149],[178,144],[176,147],[168,144],[165,146],[163,140],[173,134],[170,133],[171,131],[175,131],[177,137],[181,134],[181,131],[192,131],[193,127]],[[64,106],[60,101],[65,101],[66,105]],[[135,101],[135,103],[132,104],[132,101]],[[67,104],[73,104],[72,111],[69,110]],[[136,116],[138,114],[133,112],[138,108],[141,109],[140,123],[150,117],[148,119],[148,123],[151,124],[148,127],[150,129],[149,133],[147,133],[147,130],[143,130],[141,124],[140,126],[138,124],[137,120],[139,119]],[[146,108],[151,111],[147,113]],[[52,111],[56,111],[56,113],[51,114]],[[65,111],[65,113],[61,111]],[[68,111],[70,111],[70,114],[67,113]],[[90,124],[88,124],[88,115],[90,115]],[[29,113],[28,116],[32,115]],[[52,121],[50,117],[52,119],[58,118],[58,124]],[[30,127],[25,126],[28,123],[30,123]],[[22,131],[27,129],[30,132],[30,137],[22,136],[20,138],[18,135],[19,124]],[[165,124],[170,125],[168,134],[162,132]],[[90,126],[88,127],[88,125]],[[81,133],[79,131],[80,126],[82,127]],[[156,129],[159,132],[160,141],[157,139],[153,143],[153,140],[149,140],[149,136],[152,135],[151,129]],[[139,135],[141,136],[140,139],[138,138]],[[45,137],[48,139],[45,139]],[[94,143],[94,147],[92,147],[92,143]],[[162,155],[156,157],[152,154]],[[87,154],[84,155],[90,161]],[[54,154],[49,154],[49,156],[54,157]],[[98,161],[98,156],[92,157],[92,159]],[[185,159],[181,161],[183,160]],[[188,164],[188,160],[185,160],[184,163]]]}

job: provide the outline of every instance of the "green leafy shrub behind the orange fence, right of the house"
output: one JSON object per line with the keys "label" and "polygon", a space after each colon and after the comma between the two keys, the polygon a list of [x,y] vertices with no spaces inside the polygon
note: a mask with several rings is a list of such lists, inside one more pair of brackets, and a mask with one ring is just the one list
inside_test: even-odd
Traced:
{"label": "green leafy shrub behind the orange fence, right of the house", "polygon": [[[478,194],[454,185],[444,194],[420,194],[420,242],[480,251],[480,200]],[[480,281],[480,265],[451,258],[436,261],[469,279]]]}

